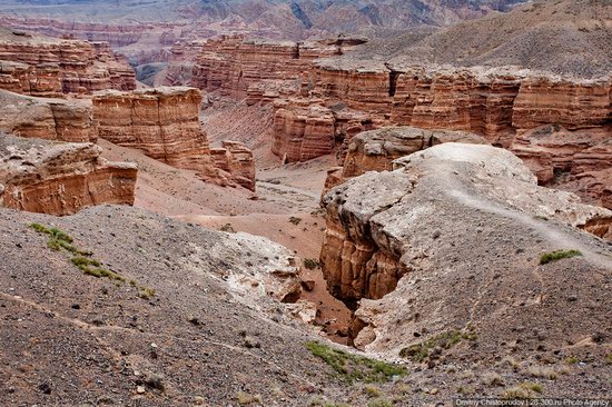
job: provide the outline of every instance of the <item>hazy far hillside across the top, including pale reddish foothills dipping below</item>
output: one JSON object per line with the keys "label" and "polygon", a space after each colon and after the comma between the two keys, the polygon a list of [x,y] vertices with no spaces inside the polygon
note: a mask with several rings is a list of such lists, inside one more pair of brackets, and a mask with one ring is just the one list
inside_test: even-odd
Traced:
{"label": "hazy far hillside across the top, including pale reddish foothills dipping below", "polygon": [[239,31],[304,40],[339,32],[375,33],[421,24],[447,26],[523,0],[209,0],[23,1],[0,4],[0,24],[47,34],[108,41],[138,63],[171,58],[175,41]]}

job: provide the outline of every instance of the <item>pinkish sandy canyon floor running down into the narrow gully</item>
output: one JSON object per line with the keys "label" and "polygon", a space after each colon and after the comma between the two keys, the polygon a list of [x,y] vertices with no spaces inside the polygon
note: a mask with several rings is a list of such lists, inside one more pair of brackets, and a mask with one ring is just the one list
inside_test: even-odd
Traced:
{"label": "pinkish sandy canyon floor running down into the narrow gully", "polygon": [[[264,236],[302,259],[318,261],[325,227],[318,201],[330,158],[258,170],[257,200],[253,200],[254,193],[245,189],[204,183],[193,171],[166,166],[106,140],[99,143],[106,158],[138,163],[136,207],[213,230],[229,226],[235,231]],[[346,343],[348,309],[327,292],[320,269],[304,268],[303,272],[305,280],[315,281],[315,288],[305,290],[302,299],[317,305],[317,325],[332,339]]]}

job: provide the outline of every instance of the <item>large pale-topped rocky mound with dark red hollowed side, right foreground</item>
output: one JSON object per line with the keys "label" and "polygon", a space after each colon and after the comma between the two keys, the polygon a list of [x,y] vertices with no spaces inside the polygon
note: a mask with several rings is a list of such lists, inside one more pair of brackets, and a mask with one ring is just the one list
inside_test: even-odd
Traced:
{"label": "large pale-topped rocky mound with dark red hollowed side, right foreground", "polygon": [[[546,348],[599,329],[612,260],[601,240],[572,226],[610,239],[611,211],[539,187],[519,158],[490,146],[443,143],[394,168],[324,198],[323,270],[329,290],[356,309],[357,346],[397,356],[430,335],[471,327],[478,353],[500,356],[500,338],[535,349],[517,326],[545,325]],[[559,249],[583,256],[539,265]],[[567,306],[570,291],[594,308]],[[561,315],[575,324],[557,324]]]}

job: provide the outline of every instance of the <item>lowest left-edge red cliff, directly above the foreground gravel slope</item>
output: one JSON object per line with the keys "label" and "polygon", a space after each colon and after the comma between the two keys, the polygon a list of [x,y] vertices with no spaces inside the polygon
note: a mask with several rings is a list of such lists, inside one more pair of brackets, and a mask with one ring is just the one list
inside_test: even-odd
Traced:
{"label": "lowest left-edge red cliff, directly above the foreground gravel slope", "polygon": [[108,162],[92,143],[0,135],[0,206],[70,215],[101,205],[134,205],[137,167]]}

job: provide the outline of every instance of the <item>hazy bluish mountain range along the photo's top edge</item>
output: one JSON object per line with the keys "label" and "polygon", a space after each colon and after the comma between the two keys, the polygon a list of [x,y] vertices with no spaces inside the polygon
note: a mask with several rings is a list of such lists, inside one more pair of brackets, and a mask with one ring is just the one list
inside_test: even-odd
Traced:
{"label": "hazy bluish mountain range along the photo's top edge", "polygon": [[304,38],[317,32],[355,32],[367,27],[446,26],[507,11],[524,0],[7,0],[0,13],[63,22],[219,23],[268,29]]}

